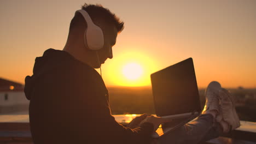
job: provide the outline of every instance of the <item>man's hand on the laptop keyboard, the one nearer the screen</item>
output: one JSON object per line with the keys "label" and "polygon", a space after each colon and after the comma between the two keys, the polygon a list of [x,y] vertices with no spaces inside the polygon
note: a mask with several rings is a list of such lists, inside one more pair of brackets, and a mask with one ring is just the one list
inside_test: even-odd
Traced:
{"label": "man's hand on the laptop keyboard, the one nearer the screen", "polygon": [[160,118],[160,117],[147,116],[146,118],[144,118],[144,120],[139,125],[146,123],[146,122],[152,123],[154,125],[154,131],[156,131],[160,124],[171,122],[171,120],[165,119],[165,118]]}

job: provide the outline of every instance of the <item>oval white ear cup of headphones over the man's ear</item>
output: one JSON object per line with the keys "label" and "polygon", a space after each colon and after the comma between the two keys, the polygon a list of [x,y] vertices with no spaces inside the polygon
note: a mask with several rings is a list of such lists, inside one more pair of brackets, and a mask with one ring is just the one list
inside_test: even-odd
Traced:
{"label": "oval white ear cup of headphones over the man's ear", "polygon": [[100,27],[96,25],[88,26],[84,38],[90,50],[100,50],[104,45],[104,36]]}

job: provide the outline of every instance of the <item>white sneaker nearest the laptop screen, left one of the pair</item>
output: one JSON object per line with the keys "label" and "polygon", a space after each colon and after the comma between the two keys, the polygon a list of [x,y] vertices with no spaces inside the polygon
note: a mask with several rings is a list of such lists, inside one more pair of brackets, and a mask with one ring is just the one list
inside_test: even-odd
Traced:
{"label": "white sneaker nearest the laptop screen, left one of the pair", "polygon": [[222,87],[220,86],[219,82],[210,82],[205,91],[206,102],[202,113],[207,113],[209,110],[216,110],[219,112],[219,90],[221,88]]}

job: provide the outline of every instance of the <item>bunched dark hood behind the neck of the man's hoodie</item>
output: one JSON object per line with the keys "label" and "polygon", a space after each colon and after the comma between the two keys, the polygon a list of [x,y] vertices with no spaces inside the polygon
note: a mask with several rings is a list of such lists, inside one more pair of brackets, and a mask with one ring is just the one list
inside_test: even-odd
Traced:
{"label": "bunched dark hood behind the neck of the man's hoodie", "polygon": [[[63,65],[63,61],[71,58],[66,51],[48,49],[44,52],[42,57],[37,57],[34,63],[33,75],[26,76],[24,92],[28,100],[31,99],[34,85],[43,75],[49,73],[52,69],[56,69]],[[56,64],[57,63],[57,64]],[[56,67],[57,66],[57,67]]]}

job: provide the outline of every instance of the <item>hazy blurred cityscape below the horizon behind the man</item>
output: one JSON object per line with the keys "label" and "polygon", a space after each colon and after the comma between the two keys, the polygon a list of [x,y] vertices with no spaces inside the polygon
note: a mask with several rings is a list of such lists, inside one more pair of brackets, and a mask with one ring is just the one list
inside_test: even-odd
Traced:
{"label": "hazy blurred cityscape below the horizon behind the man", "polygon": [[[28,115],[29,100],[25,97],[23,85],[1,80],[0,115]],[[256,88],[227,89],[235,97],[236,110],[240,119],[256,122],[256,115],[252,115],[252,113],[256,113]],[[112,115],[155,114],[151,87],[108,87],[108,91]],[[205,88],[199,88],[199,95],[201,108],[203,108]]]}

